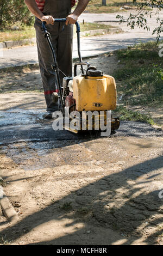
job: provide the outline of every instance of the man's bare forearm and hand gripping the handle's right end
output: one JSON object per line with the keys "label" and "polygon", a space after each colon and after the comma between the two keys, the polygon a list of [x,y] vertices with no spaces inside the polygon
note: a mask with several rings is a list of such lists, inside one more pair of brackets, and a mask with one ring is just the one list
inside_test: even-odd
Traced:
{"label": "man's bare forearm and hand gripping the handle's right end", "polygon": [[83,13],[89,1],[90,0],[79,0],[77,8],[73,11],[72,14],[67,16],[66,25],[76,23],[79,15]]}

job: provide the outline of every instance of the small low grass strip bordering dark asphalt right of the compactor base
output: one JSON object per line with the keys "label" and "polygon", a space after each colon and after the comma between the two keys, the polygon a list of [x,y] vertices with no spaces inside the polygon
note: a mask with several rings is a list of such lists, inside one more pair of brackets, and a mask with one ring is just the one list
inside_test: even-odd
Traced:
{"label": "small low grass strip bordering dark asphalt right of the compactor base", "polygon": [[148,117],[146,114],[141,114],[138,111],[131,111],[126,107],[120,105],[117,106],[115,113],[120,114],[120,120],[128,120],[128,121],[140,121],[143,123],[148,123],[150,125],[154,125],[154,120],[151,117]]}

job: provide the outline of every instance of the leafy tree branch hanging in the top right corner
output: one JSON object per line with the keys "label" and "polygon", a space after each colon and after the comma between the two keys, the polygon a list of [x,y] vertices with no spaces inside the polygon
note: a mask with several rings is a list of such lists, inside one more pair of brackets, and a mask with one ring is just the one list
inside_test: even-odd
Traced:
{"label": "leafy tree branch hanging in the top right corner", "polygon": [[[136,0],[133,0],[135,3]],[[153,34],[156,34],[156,39],[160,39],[160,35],[163,32],[163,19],[160,19],[159,13],[163,10],[163,1],[160,0],[142,0],[140,3],[137,3],[137,13],[130,13],[127,19],[124,19],[123,16],[117,15],[117,19],[121,22],[126,21],[127,25],[134,29],[135,26],[139,28],[150,30],[148,26],[148,19],[152,16],[155,17],[156,27],[153,30]]]}

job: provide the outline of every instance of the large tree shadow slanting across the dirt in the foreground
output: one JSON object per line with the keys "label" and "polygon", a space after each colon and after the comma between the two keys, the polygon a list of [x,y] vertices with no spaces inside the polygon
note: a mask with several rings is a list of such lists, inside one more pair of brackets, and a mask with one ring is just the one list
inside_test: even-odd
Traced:
{"label": "large tree shadow slanting across the dirt in the foreground", "polygon": [[[111,240],[103,235],[106,229],[108,234],[109,230],[123,234],[126,239],[123,244],[135,242],[143,237],[143,242],[153,245],[158,242],[158,237],[162,234],[163,199],[158,197],[159,191],[153,183],[161,179],[162,167],[163,156],[159,156],[126,168],[122,172],[112,173],[71,192],[12,227],[5,228],[0,236],[5,234],[8,239],[15,241],[24,235],[23,229],[27,227],[27,234],[30,234],[34,228],[43,224],[46,230],[48,222],[68,218],[70,222],[65,224],[65,228],[74,227],[74,224],[81,222],[84,227],[74,230],[71,234],[33,244],[93,245],[95,244],[93,239],[96,236],[93,233],[90,235],[91,243],[86,238],[83,241],[77,241],[77,237],[81,237],[86,228],[90,228],[91,222],[91,225],[102,227],[99,245],[117,242],[114,237]],[[71,202],[70,209],[63,208],[66,202]],[[83,214],[81,209],[86,209],[86,213]],[[55,223],[52,227],[55,234]]]}

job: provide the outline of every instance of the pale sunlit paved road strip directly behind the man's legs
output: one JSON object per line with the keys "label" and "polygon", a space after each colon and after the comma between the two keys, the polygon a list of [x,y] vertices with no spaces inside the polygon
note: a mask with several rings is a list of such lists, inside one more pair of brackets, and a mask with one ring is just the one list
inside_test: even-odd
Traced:
{"label": "pale sunlit paved road strip directly behind the man's legs", "polygon": [[[96,54],[114,51],[120,48],[126,48],[140,41],[146,42],[154,40],[154,36],[142,34],[140,37],[136,34],[106,34],[101,36],[93,36],[92,38],[81,39],[82,57],[95,56]],[[78,57],[77,40],[74,40],[73,58]],[[0,68],[9,66],[19,66],[37,63],[36,46],[23,46],[11,48],[3,51],[3,57],[0,58]]]}

